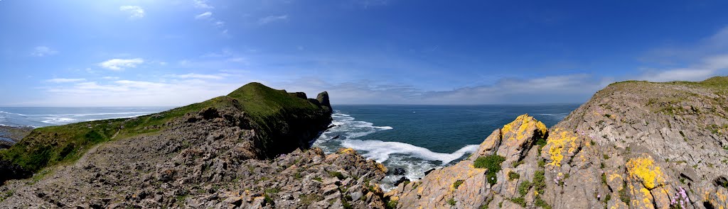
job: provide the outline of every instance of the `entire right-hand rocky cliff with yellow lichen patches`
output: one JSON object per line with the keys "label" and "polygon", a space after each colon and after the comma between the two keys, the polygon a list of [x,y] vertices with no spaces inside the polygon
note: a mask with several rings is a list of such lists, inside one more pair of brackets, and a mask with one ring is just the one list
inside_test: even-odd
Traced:
{"label": "entire right-hand rocky cliff with yellow lichen patches", "polygon": [[548,129],[521,115],[397,208],[727,208],[728,78],[627,81]]}

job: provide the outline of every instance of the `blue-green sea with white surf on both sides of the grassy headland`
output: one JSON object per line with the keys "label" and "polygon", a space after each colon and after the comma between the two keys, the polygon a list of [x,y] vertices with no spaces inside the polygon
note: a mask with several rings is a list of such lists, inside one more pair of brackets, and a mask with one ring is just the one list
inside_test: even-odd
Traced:
{"label": "blue-green sea with white surf on both sides of the grassy headland", "polygon": [[[402,176],[416,180],[424,171],[452,165],[475,152],[496,128],[528,113],[546,126],[579,105],[334,105],[333,128],[313,142],[324,152],[350,147],[393,171],[382,189]],[[0,126],[57,126],[88,120],[132,118],[170,107],[0,107]]]}

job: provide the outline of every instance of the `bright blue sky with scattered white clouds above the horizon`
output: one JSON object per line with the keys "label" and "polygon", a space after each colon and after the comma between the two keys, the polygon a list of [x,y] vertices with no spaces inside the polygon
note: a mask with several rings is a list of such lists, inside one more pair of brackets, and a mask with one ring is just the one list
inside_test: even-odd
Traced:
{"label": "bright blue sky with scattered white clouds above the horizon", "polygon": [[0,106],[585,102],[728,74],[726,1],[0,0]]}

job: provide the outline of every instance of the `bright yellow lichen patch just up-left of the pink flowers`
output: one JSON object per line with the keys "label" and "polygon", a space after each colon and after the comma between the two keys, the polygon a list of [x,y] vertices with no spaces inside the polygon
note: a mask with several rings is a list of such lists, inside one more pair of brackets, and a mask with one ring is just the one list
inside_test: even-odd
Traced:
{"label": "bright yellow lichen patch just up-left of the pink flowers", "polygon": [[636,179],[640,179],[647,189],[652,189],[665,183],[660,167],[654,165],[654,160],[649,155],[642,155],[642,157],[630,159],[626,166],[627,173]]}

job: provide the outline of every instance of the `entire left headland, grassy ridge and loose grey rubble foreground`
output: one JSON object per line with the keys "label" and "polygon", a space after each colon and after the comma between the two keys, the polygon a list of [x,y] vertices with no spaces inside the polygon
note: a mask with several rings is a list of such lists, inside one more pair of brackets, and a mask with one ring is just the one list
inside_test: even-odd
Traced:
{"label": "entire left headland, grassy ridge and loose grey rubble foreground", "polygon": [[381,164],[308,149],[329,123],[326,92],[249,83],[154,115],[37,128],[0,152],[3,168],[35,173],[6,181],[0,208],[383,208]]}

